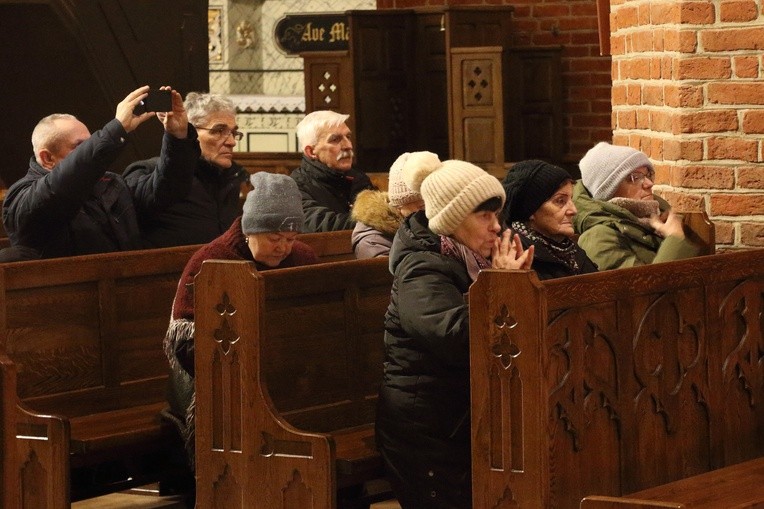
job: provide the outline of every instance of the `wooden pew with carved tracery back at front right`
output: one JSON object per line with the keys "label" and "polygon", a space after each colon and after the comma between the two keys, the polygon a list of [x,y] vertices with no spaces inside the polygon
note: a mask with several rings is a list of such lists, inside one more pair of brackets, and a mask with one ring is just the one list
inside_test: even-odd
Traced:
{"label": "wooden pew with carved tracery back at front right", "polygon": [[474,507],[578,507],[764,455],[764,250],[470,290]]}

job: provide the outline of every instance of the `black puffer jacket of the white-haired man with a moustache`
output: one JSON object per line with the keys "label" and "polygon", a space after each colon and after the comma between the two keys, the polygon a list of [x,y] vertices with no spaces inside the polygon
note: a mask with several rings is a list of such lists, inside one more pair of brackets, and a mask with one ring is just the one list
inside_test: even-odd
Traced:
{"label": "black puffer jacket of the white-haired man with a moustache", "polygon": [[375,189],[369,177],[361,171],[332,170],[306,156],[302,156],[300,167],[292,172],[292,178],[302,194],[305,233],[352,230],[355,221],[350,217],[350,208],[356,195],[364,189]]}

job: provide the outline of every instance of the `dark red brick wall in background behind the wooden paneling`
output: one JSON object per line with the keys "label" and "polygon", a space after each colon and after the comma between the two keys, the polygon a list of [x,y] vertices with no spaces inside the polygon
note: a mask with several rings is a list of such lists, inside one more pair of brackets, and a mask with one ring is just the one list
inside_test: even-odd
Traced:
{"label": "dark red brick wall in background behind the wooden paneling", "polygon": [[442,5],[512,5],[517,45],[563,45],[565,159],[578,162],[610,140],[610,58],[599,54],[595,0],[377,0],[380,9]]}

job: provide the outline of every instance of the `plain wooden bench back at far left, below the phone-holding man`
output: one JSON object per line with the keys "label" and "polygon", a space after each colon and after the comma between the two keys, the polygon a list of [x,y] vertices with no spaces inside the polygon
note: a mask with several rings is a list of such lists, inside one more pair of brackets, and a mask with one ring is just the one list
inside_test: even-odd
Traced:
{"label": "plain wooden bench back at far left, below the phone-holding man", "polygon": [[0,265],[0,343],[27,406],[73,417],[164,400],[162,338],[197,248]]}

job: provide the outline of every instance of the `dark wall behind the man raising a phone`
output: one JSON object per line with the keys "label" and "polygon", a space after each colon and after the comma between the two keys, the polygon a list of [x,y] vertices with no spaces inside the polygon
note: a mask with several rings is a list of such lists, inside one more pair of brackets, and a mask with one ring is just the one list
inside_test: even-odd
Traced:
{"label": "dark wall behind the man raising a phone", "polygon": [[[91,132],[141,85],[208,90],[206,0],[0,0],[0,179],[26,173],[31,134],[51,113]],[[159,153],[153,120],[131,133],[111,168]]]}

